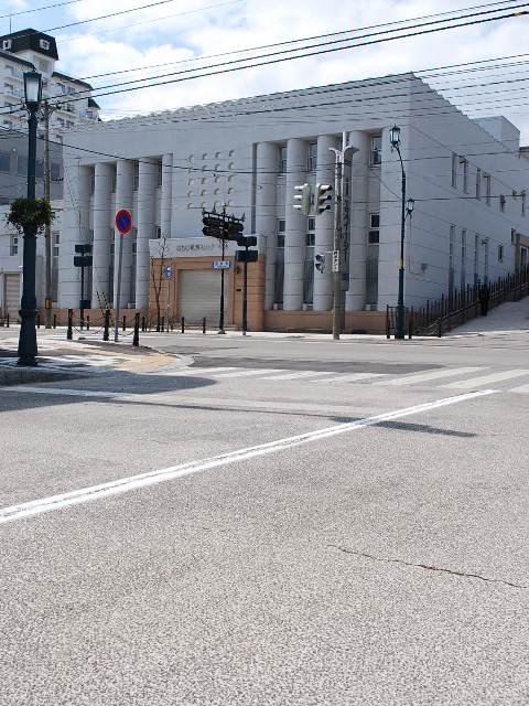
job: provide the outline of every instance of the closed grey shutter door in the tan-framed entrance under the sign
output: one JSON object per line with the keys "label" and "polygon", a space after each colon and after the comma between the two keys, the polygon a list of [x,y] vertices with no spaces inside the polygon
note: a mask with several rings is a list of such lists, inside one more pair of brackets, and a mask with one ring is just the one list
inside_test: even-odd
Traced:
{"label": "closed grey shutter door in the tan-framed entrance under the sign", "polygon": [[[229,272],[224,271],[224,321],[227,323]],[[218,325],[220,314],[220,270],[181,270],[179,272],[179,319],[186,323]]]}

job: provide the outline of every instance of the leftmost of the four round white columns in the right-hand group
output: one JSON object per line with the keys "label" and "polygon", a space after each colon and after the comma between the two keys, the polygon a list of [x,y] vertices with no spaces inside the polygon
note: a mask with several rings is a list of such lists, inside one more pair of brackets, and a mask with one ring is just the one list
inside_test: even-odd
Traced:
{"label": "leftmost of the four round white columns in the right-hand group", "polygon": [[278,250],[277,181],[278,146],[259,142],[256,154],[256,233],[267,236],[264,309],[273,308]]}

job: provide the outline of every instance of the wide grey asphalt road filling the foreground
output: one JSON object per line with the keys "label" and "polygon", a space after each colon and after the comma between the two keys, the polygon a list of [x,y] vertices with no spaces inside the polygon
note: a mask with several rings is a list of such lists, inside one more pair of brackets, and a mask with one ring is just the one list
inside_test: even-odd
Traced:
{"label": "wide grey asphalt road filling the foreground", "polygon": [[527,334],[160,339],[0,388],[2,706],[529,702]]}

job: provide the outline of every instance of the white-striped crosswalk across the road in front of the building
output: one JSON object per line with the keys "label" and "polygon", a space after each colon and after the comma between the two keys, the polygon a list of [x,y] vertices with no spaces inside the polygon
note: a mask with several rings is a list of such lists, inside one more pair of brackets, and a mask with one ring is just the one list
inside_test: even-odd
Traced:
{"label": "white-striped crosswalk across the road in front of the building", "polygon": [[529,368],[500,370],[486,366],[450,367],[420,373],[336,373],[335,371],[293,371],[264,367],[171,367],[161,373],[177,377],[207,377],[222,381],[266,381],[267,383],[310,382],[319,385],[382,385],[389,387],[428,386],[439,389],[484,389],[494,387],[529,394]]}

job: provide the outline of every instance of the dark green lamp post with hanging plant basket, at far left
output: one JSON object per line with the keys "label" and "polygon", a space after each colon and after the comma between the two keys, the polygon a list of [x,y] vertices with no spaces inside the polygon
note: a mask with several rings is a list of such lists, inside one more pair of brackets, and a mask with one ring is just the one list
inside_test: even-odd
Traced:
{"label": "dark green lamp post with hanging plant basket, at far left", "polygon": [[[24,97],[28,119],[28,199],[35,197],[36,170],[36,111],[41,104],[42,75],[36,71],[24,73]],[[19,365],[37,365],[36,362],[36,228],[24,225],[24,252],[22,271],[22,300],[20,302]]]}

